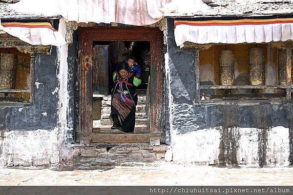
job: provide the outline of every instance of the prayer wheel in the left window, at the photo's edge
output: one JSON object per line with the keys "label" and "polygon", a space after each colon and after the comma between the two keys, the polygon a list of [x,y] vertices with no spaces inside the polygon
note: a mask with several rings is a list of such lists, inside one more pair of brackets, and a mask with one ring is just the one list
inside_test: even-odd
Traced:
{"label": "prayer wheel in the left window, at the photo's edge", "polygon": [[0,89],[14,89],[16,60],[14,54],[0,54]]}

